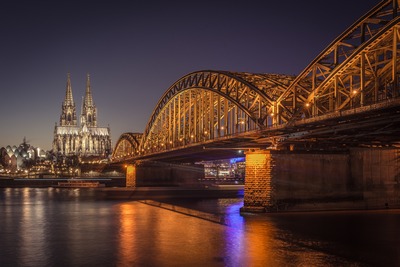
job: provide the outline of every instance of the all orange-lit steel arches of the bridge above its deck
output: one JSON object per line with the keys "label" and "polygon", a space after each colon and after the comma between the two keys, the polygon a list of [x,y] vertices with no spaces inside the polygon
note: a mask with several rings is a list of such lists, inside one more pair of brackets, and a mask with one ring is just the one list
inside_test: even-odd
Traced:
{"label": "all orange-lit steel arches of the bridge above its deck", "polygon": [[400,98],[399,1],[380,2],[298,76],[197,71],[172,84],[143,135],[123,134],[131,158],[362,112]]}

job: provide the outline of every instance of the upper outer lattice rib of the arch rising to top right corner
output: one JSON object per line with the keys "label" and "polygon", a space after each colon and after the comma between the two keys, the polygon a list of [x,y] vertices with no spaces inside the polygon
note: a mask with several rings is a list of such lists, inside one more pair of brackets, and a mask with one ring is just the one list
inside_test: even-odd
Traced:
{"label": "upper outer lattice rib of the arch rising to top right corner", "polygon": [[[300,111],[310,104],[309,96],[326,79],[332,78],[332,72],[343,68],[363,44],[383,34],[387,24],[396,19],[398,6],[398,1],[382,1],[323,50],[279,97],[280,119],[283,122],[298,119],[303,114]],[[292,105],[287,105],[290,102]]]}

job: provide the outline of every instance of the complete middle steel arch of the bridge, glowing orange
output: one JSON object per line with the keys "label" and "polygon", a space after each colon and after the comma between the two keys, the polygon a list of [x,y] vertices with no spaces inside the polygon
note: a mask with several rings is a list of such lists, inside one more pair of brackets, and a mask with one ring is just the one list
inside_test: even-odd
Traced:
{"label": "complete middle steel arch of the bridge, glowing orange", "polygon": [[140,154],[162,152],[272,125],[273,103],[293,76],[198,71],[176,81],[150,117]]}

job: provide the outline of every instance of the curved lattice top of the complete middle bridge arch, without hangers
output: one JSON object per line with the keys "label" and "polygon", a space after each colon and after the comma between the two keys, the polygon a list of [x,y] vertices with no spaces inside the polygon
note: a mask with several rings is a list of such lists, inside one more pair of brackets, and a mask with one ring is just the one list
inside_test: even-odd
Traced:
{"label": "curved lattice top of the complete middle bridge arch, without hangers", "polygon": [[[171,105],[172,101],[176,101],[176,99],[186,91],[202,90],[222,97],[223,103],[221,105],[224,110],[231,109],[225,107],[225,105],[237,107],[245,113],[246,120],[253,121],[257,127],[261,129],[266,126],[268,115],[273,112],[275,100],[293,79],[293,76],[286,75],[232,73],[223,71],[200,71],[188,74],[175,82],[158,102],[146,127],[141,150],[145,150],[145,148],[150,149],[154,146],[152,143],[160,142],[160,138],[162,138],[164,134],[158,134],[160,130],[156,127],[159,124],[157,120],[160,120],[161,114],[166,112],[166,109],[169,109],[169,105]],[[183,94],[183,97],[185,98],[186,96]],[[219,98],[216,97],[216,99]],[[194,101],[199,100],[195,99]],[[226,104],[226,101],[228,101],[228,104]],[[189,104],[187,101],[182,103],[182,107],[179,107],[187,112]],[[194,104],[191,103],[190,105]],[[217,105],[217,102],[215,102],[215,105]],[[219,109],[216,110],[216,113],[219,114],[218,110]],[[208,112],[211,111],[208,110]],[[226,116],[226,114],[220,114],[221,118],[224,116]],[[221,118],[216,119],[216,123],[218,123]]]}

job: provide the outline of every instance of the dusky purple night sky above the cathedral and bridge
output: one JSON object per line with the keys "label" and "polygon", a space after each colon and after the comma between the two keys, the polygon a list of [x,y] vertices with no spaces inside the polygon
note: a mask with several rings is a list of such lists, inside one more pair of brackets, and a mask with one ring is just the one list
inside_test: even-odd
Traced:
{"label": "dusky purple night sky above the cathedral and bridge", "polygon": [[0,147],[51,149],[67,73],[77,115],[91,77],[113,146],[199,70],[299,74],[379,0],[2,1]]}

